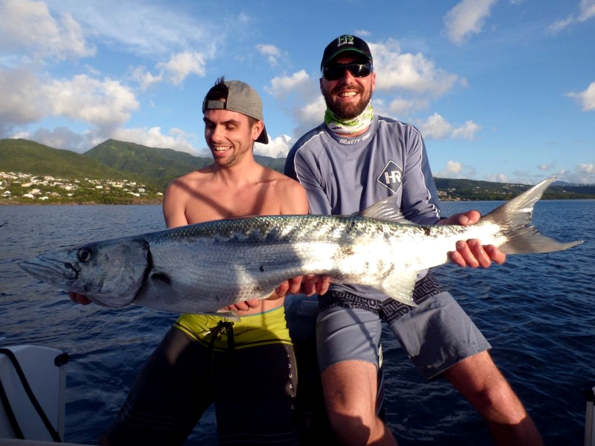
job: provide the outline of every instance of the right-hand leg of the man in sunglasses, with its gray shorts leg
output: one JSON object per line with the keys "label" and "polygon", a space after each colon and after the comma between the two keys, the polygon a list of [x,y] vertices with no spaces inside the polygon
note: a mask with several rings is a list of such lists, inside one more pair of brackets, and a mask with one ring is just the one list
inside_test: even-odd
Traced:
{"label": "right-hand leg of the man in sunglasses, with its gray shorts leg", "polygon": [[541,445],[533,420],[496,368],[490,344],[431,274],[417,282],[405,307],[387,299],[383,314],[403,349],[427,379],[443,373],[486,420],[501,445]]}

